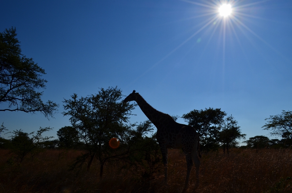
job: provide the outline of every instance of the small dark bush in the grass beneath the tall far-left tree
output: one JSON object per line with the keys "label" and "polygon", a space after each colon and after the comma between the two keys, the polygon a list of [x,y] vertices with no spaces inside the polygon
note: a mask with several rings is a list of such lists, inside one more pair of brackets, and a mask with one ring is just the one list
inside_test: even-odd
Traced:
{"label": "small dark bush in the grass beneath the tall far-left tree", "polygon": [[[34,132],[24,133],[21,129],[13,131],[13,136],[10,140],[10,153],[16,155],[16,159],[20,160],[20,163],[24,160],[25,156],[30,153],[33,157],[44,141],[47,141],[53,137],[43,137],[42,134],[46,131],[51,130],[50,127],[42,128],[36,132],[36,135],[33,135]],[[30,137],[32,135],[32,137]]]}

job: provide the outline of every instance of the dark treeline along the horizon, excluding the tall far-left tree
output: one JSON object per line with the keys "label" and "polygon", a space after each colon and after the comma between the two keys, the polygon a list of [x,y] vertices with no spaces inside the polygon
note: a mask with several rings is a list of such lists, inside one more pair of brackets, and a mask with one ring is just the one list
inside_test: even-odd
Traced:
{"label": "dark treeline along the horizon, excluding the tall far-left tree", "polygon": [[[138,164],[141,160],[159,160],[160,152],[155,140],[154,127],[147,120],[130,123],[129,116],[136,104],[123,103],[122,91],[117,87],[101,88],[98,94],[78,98],[77,94],[71,99],[64,100],[64,115],[69,116],[72,126],[64,126],[57,131],[58,139],[43,137],[50,128],[40,128],[39,131],[25,133],[23,130],[9,132],[9,139],[3,138],[7,130],[1,125],[0,147],[10,149],[15,158],[22,162],[26,156],[33,157],[43,149],[79,149],[86,150],[76,159],[72,167],[81,167],[87,164],[89,168],[92,161],[100,164],[101,175],[106,162],[121,160],[125,163]],[[200,135],[200,149],[214,151],[221,148],[225,153],[229,149],[239,147],[240,139],[245,139],[239,129],[235,118],[221,109],[201,109],[182,115],[182,118],[193,126]],[[177,119],[178,116],[173,116]],[[264,129],[270,130],[271,135],[282,139],[269,139],[266,136],[255,136],[245,140],[246,146],[241,148],[287,148],[292,146],[292,113],[283,111],[280,115],[267,118]],[[117,138],[120,146],[112,149],[109,140]],[[154,162],[156,162],[154,161]]]}

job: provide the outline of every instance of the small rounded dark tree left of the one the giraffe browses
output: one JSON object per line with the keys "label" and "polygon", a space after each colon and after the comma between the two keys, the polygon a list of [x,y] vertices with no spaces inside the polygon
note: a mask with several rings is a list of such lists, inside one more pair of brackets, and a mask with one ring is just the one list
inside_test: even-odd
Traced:
{"label": "small rounded dark tree left of the one the giraffe browses", "polygon": [[71,126],[64,126],[57,131],[60,145],[73,147],[79,142],[78,130]]}

